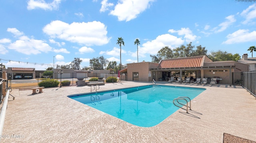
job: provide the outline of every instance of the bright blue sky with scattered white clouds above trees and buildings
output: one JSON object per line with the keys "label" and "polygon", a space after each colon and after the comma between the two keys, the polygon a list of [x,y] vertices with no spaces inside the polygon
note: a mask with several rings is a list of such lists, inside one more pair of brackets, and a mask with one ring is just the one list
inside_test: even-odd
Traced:
{"label": "bright blue sky with scattered white clouds above trees and buildings", "polygon": [[[238,53],[256,46],[256,3],[236,0],[2,0],[0,63],[44,70],[104,56],[122,64],[151,61],[165,46],[192,42]],[[256,54],[256,53],[255,53]]]}

